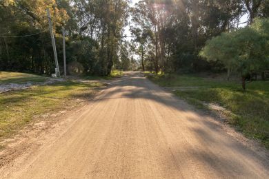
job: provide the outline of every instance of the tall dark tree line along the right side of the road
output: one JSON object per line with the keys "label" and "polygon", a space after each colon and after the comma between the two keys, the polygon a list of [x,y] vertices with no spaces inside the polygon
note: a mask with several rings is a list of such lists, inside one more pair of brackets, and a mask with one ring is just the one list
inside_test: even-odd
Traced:
{"label": "tall dark tree line along the right side of the road", "polygon": [[[243,25],[250,26],[255,18],[268,18],[269,1],[144,0],[139,1],[131,12],[134,22],[131,31],[135,36],[133,43],[135,43],[135,50],[139,54],[143,70],[152,70],[156,73],[222,72],[230,70],[231,65],[227,66],[225,61],[231,58],[236,59],[235,56],[228,52],[223,57],[224,60],[219,60],[217,54],[210,56],[202,53],[201,50],[206,42],[215,36],[220,36],[223,32],[235,32]],[[243,17],[248,18],[243,21]],[[266,28],[268,30],[268,27]],[[241,38],[248,35],[251,38],[254,34],[251,34],[250,29],[246,29]],[[223,36],[223,39],[225,38]],[[230,39],[233,38],[235,36]],[[256,38],[252,40],[259,43],[260,39],[257,36]],[[241,43],[243,42],[245,42],[244,39],[241,39]],[[211,54],[215,53],[215,45],[217,44],[211,43]],[[217,45],[217,48],[221,49],[221,45]],[[237,45],[239,48],[244,47],[239,43]],[[237,48],[235,46],[233,45],[234,50],[238,50],[238,46]],[[230,46],[226,45],[226,48]],[[254,44],[252,48],[255,49]],[[264,45],[263,50],[266,50]],[[265,56],[261,55],[260,58],[266,58]],[[212,57],[209,59],[214,60],[208,60],[207,57]]]}

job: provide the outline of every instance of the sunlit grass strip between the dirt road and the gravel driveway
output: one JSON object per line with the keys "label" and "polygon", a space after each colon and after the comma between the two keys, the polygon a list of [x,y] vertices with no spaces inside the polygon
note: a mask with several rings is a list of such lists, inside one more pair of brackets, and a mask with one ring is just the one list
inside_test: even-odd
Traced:
{"label": "sunlit grass strip between the dirt road and the gravel driveway", "polygon": [[72,81],[41,85],[30,89],[0,94],[0,137],[14,134],[34,116],[53,114],[88,99],[101,83],[77,83]]}

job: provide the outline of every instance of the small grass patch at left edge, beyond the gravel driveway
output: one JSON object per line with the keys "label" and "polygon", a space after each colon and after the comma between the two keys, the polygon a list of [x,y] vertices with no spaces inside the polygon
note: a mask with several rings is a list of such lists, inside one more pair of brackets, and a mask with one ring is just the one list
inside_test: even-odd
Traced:
{"label": "small grass patch at left edge, beyond the gravel driveway", "polygon": [[48,77],[19,72],[0,72],[0,83],[44,82]]}

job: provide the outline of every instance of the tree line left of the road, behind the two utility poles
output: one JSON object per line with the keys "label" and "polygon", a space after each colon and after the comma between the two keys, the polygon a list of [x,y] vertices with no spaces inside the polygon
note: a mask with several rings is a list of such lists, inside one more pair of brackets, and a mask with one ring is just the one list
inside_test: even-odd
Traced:
{"label": "tree line left of the road, behind the two utility poles", "polygon": [[[0,1],[0,70],[54,72],[47,8],[52,14],[59,59],[63,58],[61,29],[64,27],[67,63],[79,62],[83,72],[101,76],[109,75],[113,65],[121,65],[119,52],[125,48],[121,44],[129,1],[3,0]],[[59,60],[59,63],[62,67],[63,62]]]}

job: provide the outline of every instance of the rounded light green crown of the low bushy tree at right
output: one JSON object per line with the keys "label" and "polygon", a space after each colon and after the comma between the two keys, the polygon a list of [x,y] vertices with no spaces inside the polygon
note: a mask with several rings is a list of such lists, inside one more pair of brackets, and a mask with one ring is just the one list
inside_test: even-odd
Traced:
{"label": "rounded light green crown of the low bushy tree at right", "polygon": [[242,76],[266,70],[269,63],[268,22],[268,19],[257,19],[251,27],[225,32],[207,41],[200,55],[208,61],[220,61]]}

